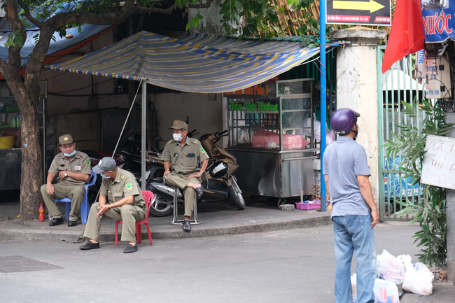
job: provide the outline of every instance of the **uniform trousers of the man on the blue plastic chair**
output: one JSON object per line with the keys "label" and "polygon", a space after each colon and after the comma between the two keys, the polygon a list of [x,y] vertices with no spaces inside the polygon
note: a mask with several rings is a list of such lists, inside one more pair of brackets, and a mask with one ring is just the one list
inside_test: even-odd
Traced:
{"label": "uniform trousers of the man on the blue plastic chair", "polygon": [[46,192],[45,184],[41,186],[41,195],[43,196],[45,206],[48,208],[50,218],[62,218],[62,213],[59,211],[57,205],[55,205],[55,200],[69,198],[71,199],[69,220],[77,221],[80,213],[80,204],[82,204],[85,196],[85,185],[67,185],[62,183],[52,185],[54,186],[54,195],[49,195]]}

